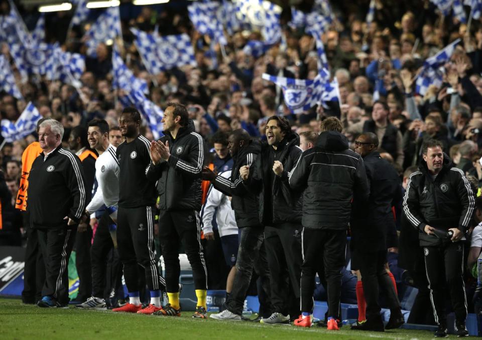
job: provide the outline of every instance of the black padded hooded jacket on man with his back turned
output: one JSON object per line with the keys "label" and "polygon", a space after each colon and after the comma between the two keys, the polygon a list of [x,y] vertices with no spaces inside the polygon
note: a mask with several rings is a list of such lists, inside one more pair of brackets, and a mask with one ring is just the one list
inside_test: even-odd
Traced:
{"label": "black padded hooded jacket on man with his back turned", "polygon": [[310,229],[346,230],[351,200],[367,202],[370,194],[362,157],[334,131],[322,132],[316,146],[303,152],[289,183],[303,191],[302,224]]}

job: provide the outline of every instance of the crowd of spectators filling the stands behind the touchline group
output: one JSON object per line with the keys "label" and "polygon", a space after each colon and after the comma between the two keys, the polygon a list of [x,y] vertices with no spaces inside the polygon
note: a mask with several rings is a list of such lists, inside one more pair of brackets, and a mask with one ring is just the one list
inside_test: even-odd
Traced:
{"label": "crowd of spectators filling the stands behind the touchline group", "polygon": [[[173,2],[171,2],[173,3]],[[309,2],[306,2],[309,3]],[[185,6],[142,7],[133,16],[122,10],[123,48],[126,65],[148,82],[149,99],[161,108],[167,102],[188,106],[190,118],[210,147],[211,137],[220,130],[243,128],[254,138],[265,139],[266,119],[285,116],[298,134],[319,132],[320,121],[329,116],[340,118],[343,133],[353,149],[362,132],[379,136],[381,154],[404,176],[421,158],[421,145],[438,139],[456,166],[471,175],[473,184],[482,186],[482,25],[472,20],[469,30],[451,16],[438,15],[428,0],[398,2],[377,0],[375,20],[367,25],[369,1],[332,3],[336,20],[323,35],[330,73],[339,84],[340,102],[327,107],[314,106],[300,115],[292,114],[283,102],[281,90],[263,80],[263,73],[313,79],[317,74],[314,38],[303,29],[292,29],[290,9],[281,21],[286,46],[275,45],[257,58],[244,51],[249,40],[262,40],[259,32],[236,32],[228,36],[227,56],[216,49],[218,65],[213,68],[210,41],[196,32]],[[124,6],[124,5],[122,5]],[[122,9],[121,6],[121,9]],[[128,5],[126,5],[128,6]],[[38,14],[19,7],[27,26],[35,26]],[[310,11],[309,6],[302,10]],[[0,15],[8,13],[8,2],[0,3]],[[133,12],[134,13],[134,12]],[[82,36],[88,25],[68,30],[69,13],[47,16],[46,39],[60,42],[67,51],[84,53]],[[158,26],[162,35],[187,33],[192,39],[197,66],[184,66],[149,74],[133,43],[129,28],[152,32]],[[68,34],[68,36],[67,36]],[[460,38],[450,61],[444,65],[443,84],[429,86],[425,95],[415,91],[415,77],[426,58]],[[99,44],[96,58],[86,58],[86,70],[79,90],[60,81],[31,76],[20,83],[20,75],[7,44],[1,53],[10,60],[25,101],[0,91],[2,119],[15,121],[28,101],[33,101],[43,117],[60,121],[68,147],[70,131],[86,127],[93,118],[118,125],[122,104],[112,88],[111,46]],[[374,92],[381,102],[374,105]],[[143,126],[149,140],[153,134]],[[307,136],[305,134],[305,136]],[[22,152],[36,140],[33,134],[24,140],[6,143],[1,152],[3,230],[0,244],[21,245],[20,212],[13,208],[21,175]],[[213,150],[211,150],[213,152]],[[412,168],[411,168],[412,167]],[[5,191],[5,192],[4,192]],[[5,198],[5,200],[4,200]],[[5,205],[5,202],[8,204]],[[9,204],[12,205],[10,209]],[[9,211],[8,213],[6,213]],[[400,280],[400,278],[399,278]]]}

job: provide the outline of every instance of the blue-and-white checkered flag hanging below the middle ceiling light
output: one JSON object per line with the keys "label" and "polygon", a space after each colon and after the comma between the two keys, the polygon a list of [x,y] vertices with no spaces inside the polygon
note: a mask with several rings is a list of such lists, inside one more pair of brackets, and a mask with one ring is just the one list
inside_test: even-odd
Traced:
{"label": "blue-and-white checkered flag hanging below the middle ceiling light", "polygon": [[85,44],[87,45],[87,55],[90,57],[97,55],[96,49],[99,43],[105,43],[107,40],[122,37],[119,8],[109,7],[105,10],[105,12],[97,18],[97,21],[92,24],[84,37],[88,39]]}

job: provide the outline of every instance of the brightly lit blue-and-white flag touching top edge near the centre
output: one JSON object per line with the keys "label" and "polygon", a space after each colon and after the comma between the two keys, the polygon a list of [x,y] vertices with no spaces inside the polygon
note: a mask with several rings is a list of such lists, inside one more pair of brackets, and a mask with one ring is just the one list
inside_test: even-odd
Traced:
{"label": "brightly lit blue-and-white flag touching top edge near the centre", "polygon": [[261,29],[267,44],[276,44],[281,40],[282,8],[267,0],[237,0],[236,15],[244,23]]}

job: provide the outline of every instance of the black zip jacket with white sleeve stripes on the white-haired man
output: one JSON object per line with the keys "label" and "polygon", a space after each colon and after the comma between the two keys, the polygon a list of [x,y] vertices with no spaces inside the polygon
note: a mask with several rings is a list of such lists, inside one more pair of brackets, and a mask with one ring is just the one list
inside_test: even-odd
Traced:
{"label": "black zip jacket with white sleeve stripes on the white-haired man", "polygon": [[90,200],[80,159],[59,146],[44,162],[40,154],[29,174],[27,209],[32,228],[66,228],[65,216],[79,221]]}

